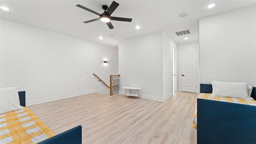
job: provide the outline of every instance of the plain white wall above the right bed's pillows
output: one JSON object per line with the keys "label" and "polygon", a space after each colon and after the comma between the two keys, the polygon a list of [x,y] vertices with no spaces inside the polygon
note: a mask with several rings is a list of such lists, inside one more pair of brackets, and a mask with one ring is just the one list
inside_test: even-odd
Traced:
{"label": "plain white wall above the right bed's pillows", "polygon": [[200,19],[200,83],[256,86],[256,6]]}

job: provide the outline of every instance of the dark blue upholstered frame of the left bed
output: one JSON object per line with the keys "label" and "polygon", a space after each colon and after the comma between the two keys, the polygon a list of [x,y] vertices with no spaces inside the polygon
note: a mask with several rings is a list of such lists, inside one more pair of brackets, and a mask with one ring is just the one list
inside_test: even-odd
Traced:
{"label": "dark blue upholstered frame of the left bed", "polygon": [[[18,92],[20,105],[26,106],[26,92]],[[76,126],[70,130],[57,134],[38,144],[82,144],[82,126]]]}

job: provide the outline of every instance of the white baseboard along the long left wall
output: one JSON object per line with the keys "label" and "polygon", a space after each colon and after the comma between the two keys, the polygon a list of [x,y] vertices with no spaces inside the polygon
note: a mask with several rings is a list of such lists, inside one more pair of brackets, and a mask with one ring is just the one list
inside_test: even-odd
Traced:
{"label": "white baseboard along the long left wall", "polygon": [[96,90],[89,90],[89,91],[86,91],[86,92],[77,92],[77,93],[74,93],[74,94],[65,94],[65,95],[62,95],[62,96],[54,96],[54,97],[51,97],[51,98],[43,98],[43,99],[39,99],[39,100],[30,100],[30,101],[26,102],[26,106],[29,106],[29,105],[32,105],[32,104],[40,104],[40,103],[43,103],[43,102],[50,102],[50,101],[54,101],[54,100],[60,100],[60,99],[63,99],[63,98],[70,98],[70,97],[74,97],[74,96],[81,96],[81,95],[84,95],[84,94],[91,94],[91,93],[94,93],[94,92],[96,92]]}

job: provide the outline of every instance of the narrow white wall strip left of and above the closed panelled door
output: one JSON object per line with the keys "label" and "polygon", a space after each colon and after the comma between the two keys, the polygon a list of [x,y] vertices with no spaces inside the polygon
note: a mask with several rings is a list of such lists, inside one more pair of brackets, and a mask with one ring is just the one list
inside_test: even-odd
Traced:
{"label": "narrow white wall strip left of and above the closed panelled door", "polygon": [[197,46],[198,48],[199,42],[189,42],[188,44],[182,43],[178,44],[177,47],[177,91],[181,91],[181,48]]}

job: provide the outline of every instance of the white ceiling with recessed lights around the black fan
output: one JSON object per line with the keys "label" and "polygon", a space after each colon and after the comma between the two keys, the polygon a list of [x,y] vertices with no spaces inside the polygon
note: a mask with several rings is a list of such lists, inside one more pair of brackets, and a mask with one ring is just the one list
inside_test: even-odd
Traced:
{"label": "white ceiling with recessed lights around the black fan", "polygon": [[[84,21],[98,18],[96,14],[78,8],[80,4],[98,13],[104,12],[102,5],[110,6],[112,0],[1,0],[0,5],[11,10],[1,10],[0,17],[46,30],[99,42],[109,46],[118,45],[119,40],[150,34],[163,30],[176,43],[198,41],[199,19],[222,12],[251,6],[256,0],[116,0],[120,5],[111,16],[132,18],[132,22],[112,20],[114,29],[104,22]],[[206,5],[216,2],[212,8]],[[179,18],[181,13],[188,13]],[[135,26],[140,25],[140,30]],[[174,32],[190,29],[191,34],[176,36]],[[114,37],[109,35],[113,34]],[[98,37],[102,36],[100,40]]]}

